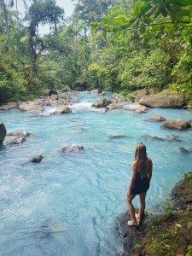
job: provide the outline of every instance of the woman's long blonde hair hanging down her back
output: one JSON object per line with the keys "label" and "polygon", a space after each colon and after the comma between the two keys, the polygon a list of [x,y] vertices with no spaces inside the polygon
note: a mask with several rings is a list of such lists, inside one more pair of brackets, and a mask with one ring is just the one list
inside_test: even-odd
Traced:
{"label": "woman's long blonde hair hanging down her back", "polygon": [[135,160],[137,161],[137,172],[141,173],[141,177],[148,176],[148,156],[146,146],[143,143],[137,143],[135,151]]}

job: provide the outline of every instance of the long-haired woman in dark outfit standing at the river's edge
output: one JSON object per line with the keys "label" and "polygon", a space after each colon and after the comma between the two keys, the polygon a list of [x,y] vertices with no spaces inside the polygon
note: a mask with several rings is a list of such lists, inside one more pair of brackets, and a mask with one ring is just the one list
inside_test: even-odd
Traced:
{"label": "long-haired woman in dark outfit standing at the river's edge", "polygon": [[[150,186],[152,177],[153,163],[147,156],[146,147],[143,143],[137,143],[135,152],[135,160],[132,163],[132,177],[129,189],[126,193],[126,204],[131,215],[131,220],[128,225],[138,225],[145,210],[145,196]],[[135,209],[132,205],[132,200],[136,195],[139,195],[140,207],[138,214],[135,214]]]}

